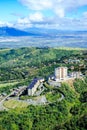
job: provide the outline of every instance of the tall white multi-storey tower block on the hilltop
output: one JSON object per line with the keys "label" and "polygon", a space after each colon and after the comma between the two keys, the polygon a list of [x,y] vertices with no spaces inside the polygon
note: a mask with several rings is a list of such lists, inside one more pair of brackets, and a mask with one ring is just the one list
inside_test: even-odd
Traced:
{"label": "tall white multi-storey tower block on the hilltop", "polygon": [[55,80],[67,78],[67,67],[55,68]]}

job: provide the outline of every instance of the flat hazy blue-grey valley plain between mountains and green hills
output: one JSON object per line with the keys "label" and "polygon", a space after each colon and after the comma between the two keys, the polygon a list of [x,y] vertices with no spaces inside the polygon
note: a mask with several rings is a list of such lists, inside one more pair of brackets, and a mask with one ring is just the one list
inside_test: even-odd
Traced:
{"label": "flat hazy blue-grey valley plain between mountains and green hills", "polygon": [[[42,31],[42,30],[41,30]],[[36,31],[37,32],[37,31]],[[30,32],[32,33],[32,31]],[[34,33],[34,32],[33,32]],[[26,36],[1,36],[0,48],[20,47],[71,47],[87,48],[86,31],[58,31],[50,30],[37,35]]]}

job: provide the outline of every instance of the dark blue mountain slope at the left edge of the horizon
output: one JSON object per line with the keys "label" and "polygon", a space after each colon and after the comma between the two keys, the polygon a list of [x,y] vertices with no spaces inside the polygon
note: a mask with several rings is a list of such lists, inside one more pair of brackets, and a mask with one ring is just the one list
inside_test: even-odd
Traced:
{"label": "dark blue mountain slope at the left edge of the horizon", "polygon": [[0,27],[0,36],[37,36],[36,33],[30,33],[13,27]]}

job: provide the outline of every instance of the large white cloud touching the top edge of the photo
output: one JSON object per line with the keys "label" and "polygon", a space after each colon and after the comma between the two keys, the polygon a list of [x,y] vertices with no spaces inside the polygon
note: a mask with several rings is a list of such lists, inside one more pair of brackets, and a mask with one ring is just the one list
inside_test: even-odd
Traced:
{"label": "large white cloud touching the top edge of the photo", "polygon": [[68,11],[87,5],[87,0],[19,0],[31,10],[52,10],[59,17]]}

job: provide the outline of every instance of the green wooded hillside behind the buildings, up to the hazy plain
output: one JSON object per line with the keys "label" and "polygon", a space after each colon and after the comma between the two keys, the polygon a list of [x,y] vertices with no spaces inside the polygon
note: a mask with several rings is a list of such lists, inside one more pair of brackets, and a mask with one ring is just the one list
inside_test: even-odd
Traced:
{"label": "green wooded hillside behind the buildings, up to the hazy plain", "polygon": [[[78,63],[68,62],[79,60]],[[71,66],[87,73],[87,51],[73,48],[20,48],[0,50],[0,84],[18,82],[28,85],[34,77],[45,77],[54,73],[55,67]],[[16,84],[17,85],[17,84]],[[8,90],[14,86],[8,86]],[[0,91],[3,91],[0,88]]]}

